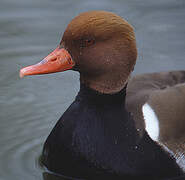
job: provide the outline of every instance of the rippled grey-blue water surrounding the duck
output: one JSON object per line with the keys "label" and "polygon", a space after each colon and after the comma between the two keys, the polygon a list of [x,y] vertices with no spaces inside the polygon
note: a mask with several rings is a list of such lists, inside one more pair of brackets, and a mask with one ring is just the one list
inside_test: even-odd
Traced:
{"label": "rippled grey-blue water surrounding the duck", "polygon": [[64,179],[43,173],[43,143],[79,89],[79,75],[64,72],[19,78],[60,42],[79,12],[104,9],[136,30],[135,73],[185,69],[184,0],[1,0],[0,180]]}

